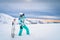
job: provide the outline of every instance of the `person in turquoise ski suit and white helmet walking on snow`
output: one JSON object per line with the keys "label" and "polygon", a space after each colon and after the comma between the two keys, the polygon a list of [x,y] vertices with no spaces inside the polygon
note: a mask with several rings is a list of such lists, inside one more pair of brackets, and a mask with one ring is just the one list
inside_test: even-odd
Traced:
{"label": "person in turquoise ski suit and white helmet walking on snow", "polygon": [[24,13],[20,13],[20,16],[19,16],[19,25],[20,25],[19,36],[22,35],[23,28],[26,30],[27,35],[29,35],[29,29],[25,25],[24,21],[25,21],[25,15],[24,15]]}

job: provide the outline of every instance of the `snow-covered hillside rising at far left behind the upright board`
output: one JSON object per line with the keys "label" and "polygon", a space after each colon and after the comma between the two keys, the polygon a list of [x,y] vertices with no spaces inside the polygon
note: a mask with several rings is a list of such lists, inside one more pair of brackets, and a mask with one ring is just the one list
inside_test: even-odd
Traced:
{"label": "snow-covered hillside rising at far left behind the upright board", "polygon": [[0,13],[0,23],[10,23],[13,20],[13,17],[11,17],[8,14]]}

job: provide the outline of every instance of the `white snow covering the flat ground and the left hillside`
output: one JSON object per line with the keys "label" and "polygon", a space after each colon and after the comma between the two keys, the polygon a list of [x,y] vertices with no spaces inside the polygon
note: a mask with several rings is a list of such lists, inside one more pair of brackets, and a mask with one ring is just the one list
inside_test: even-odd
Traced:
{"label": "white snow covering the flat ground and the left hillside", "polygon": [[[60,40],[60,23],[27,24],[30,30],[30,35],[26,35],[26,31],[24,29],[22,36],[18,36],[19,25],[17,24],[15,27],[15,38],[12,38],[11,21],[13,17],[7,15],[5,15],[4,17],[3,16],[0,14],[0,40]],[[6,19],[4,19],[5,17]]]}

